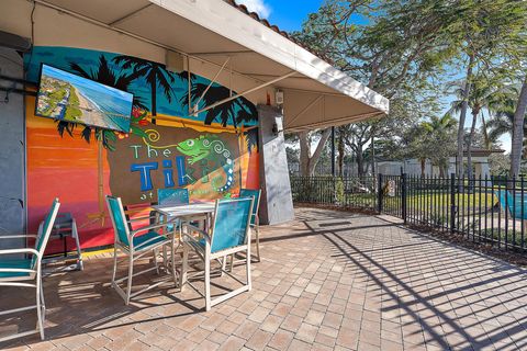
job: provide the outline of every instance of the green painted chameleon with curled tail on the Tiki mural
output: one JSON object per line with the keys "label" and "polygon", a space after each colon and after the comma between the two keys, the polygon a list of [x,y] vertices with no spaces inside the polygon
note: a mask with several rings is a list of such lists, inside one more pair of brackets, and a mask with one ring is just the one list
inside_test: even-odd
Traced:
{"label": "green painted chameleon with curled tail on the Tiki mural", "polygon": [[214,168],[221,166],[225,172],[225,182],[218,186],[216,183],[222,177],[215,177],[211,184],[216,192],[226,192],[234,185],[234,160],[225,144],[214,135],[201,135],[199,138],[187,139],[177,145],[178,151],[189,156],[188,162],[194,165],[199,161],[212,162]]}

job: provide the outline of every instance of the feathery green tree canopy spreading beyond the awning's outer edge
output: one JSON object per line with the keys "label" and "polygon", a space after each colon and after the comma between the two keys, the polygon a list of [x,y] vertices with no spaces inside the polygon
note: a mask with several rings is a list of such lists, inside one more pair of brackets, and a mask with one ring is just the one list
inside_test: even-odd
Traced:
{"label": "feathery green tree canopy spreading beyond the awning's outer edge", "polygon": [[[372,137],[382,138],[373,150],[383,158],[402,157],[402,147],[411,144],[427,146],[408,137],[422,128],[421,121],[439,114],[449,73],[470,72],[463,80],[472,89],[471,107],[483,118],[479,113],[492,109],[501,88],[525,76],[526,8],[520,0],[327,0],[311,14],[293,36],[391,100],[389,117],[338,128],[345,146],[339,149],[356,155],[359,173],[372,157]],[[462,140],[464,120],[459,131]],[[492,135],[482,132],[489,146]],[[424,154],[453,152],[451,136],[433,138],[440,143]]]}

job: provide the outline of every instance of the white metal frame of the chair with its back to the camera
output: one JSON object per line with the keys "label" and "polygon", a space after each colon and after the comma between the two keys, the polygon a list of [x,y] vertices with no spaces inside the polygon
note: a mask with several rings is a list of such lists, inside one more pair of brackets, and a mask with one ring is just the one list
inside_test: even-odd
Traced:
{"label": "white metal frame of the chair with its back to the camera", "polygon": [[[253,208],[253,202],[251,200],[250,203],[250,208]],[[216,201],[216,205],[214,208],[214,213],[217,213],[217,207],[218,207],[220,201]],[[251,290],[251,278],[250,278],[250,215],[248,216],[247,220],[247,226],[246,226],[246,237],[245,237],[245,242],[240,246],[217,251],[217,252],[211,252],[211,244],[212,239],[214,236],[214,228],[216,224],[216,216],[214,216],[212,220],[212,226],[211,226],[211,234],[208,234],[203,230],[201,230],[198,227],[194,227],[188,223],[184,223],[182,225],[182,233],[181,233],[181,239],[183,244],[183,263],[181,268],[181,274],[180,274],[180,287],[181,291],[183,291],[184,285],[189,284],[198,294],[200,294],[202,297],[205,298],[205,310],[209,312],[211,310],[212,306],[215,306],[231,297],[234,297],[236,295],[239,295],[244,292],[248,292]],[[199,233],[204,239],[205,239],[205,246],[201,246],[199,244],[199,240],[187,233],[187,229],[190,229],[191,231]],[[193,249],[198,257],[203,261],[204,263],[204,285],[205,285],[205,293],[203,294],[198,290],[192,283],[189,282],[189,276],[188,276],[188,270],[189,270],[189,251]],[[246,253],[246,282],[240,281],[231,272],[227,272],[224,268],[224,262],[225,258],[229,254],[234,256],[237,252],[244,252]],[[223,260],[220,260],[223,259]],[[242,287],[238,287],[236,290],[233,290],[220,297],[216,297],[214,299],[211,298],[211,261],[217,261],[220,263],[220,270],[223,275],[223,273],[227,274],[231,276],[233,280],[236,282],[243,284]]]}

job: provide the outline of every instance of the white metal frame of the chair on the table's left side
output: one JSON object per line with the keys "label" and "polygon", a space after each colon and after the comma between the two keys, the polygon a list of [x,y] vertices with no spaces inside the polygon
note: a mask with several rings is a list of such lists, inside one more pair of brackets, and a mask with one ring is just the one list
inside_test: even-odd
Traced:
{"label": "white metal frame of the chair on the table's left side", "polygon": [[[172,233],[171,235],[167,235],[167,238],[165,240],[159,241],[155,245],[148,246],[148,244],[154,240],[154,239],[149,239],[145,242],[142,242],[139,246],[134,247],[134,237],[137,236],[139,233],[148,231],[148,230],[152,230],[152,229],[159,229],[159,228],[166,227],[170,223],[167,222],[167,223],[162,223],[162,224],[154,224],[154,225],[142,227],[142,228],[138,228],[138,229],[135,229],[135,230],[130,230],[128,229],[128,224],[131,224],[133,222],[145,220],[145,219],[149,219],[149,218],[156,218],[156,216],[132,218],[132,219],[127,220],[126,216],[124,214],[123,204],[121,202],[121,199],[120,197],[115,197],[115,199],[117,200],[120,208],[121,208],[121,216],[122,216],[123,223],[125,224],[124,227],[125,227],[125,230],[126,230],[126,236],[128,238],[130,247],[124,246],[119,241],[119,239],[117,239],[119,235],[117,235],[117,231],[116,231],[117,227],[115,225],[115,222],[114,222],[113,217],[110,216],[110,218],[112,219],[112,225],[113,225],[114,236],[115,236],[114,248],[113,248],[112,287],[124,299],[125,304],[128,305],[132,297],[135,297],[139,294],[143,294],[143,293],[145,293],[145,292],[147,292],[147,291],[149,291],[154,287],[157,287],[160,284],[164,284],[164,283],[167,282],[167,280],[161,280],[157,283],[150,284],[150,285],[137,291],[137,292],[132,293],[132,281],[133,281],[134,276],[150,272],[153,270],[156,270],[157,273],[159,274],[159,264],[157,262],[158,250],[166,247],[166,246],[170,246],[169,251],[170,251],[171,264],[170,264],[170,267],[168,267],[168,265],[165,264],[166,262],[164,262],[164,268],[167,269],[167,271],[170,271],[171,279],[173,280],[175,284],[177,285],[179,283],[178,278],[177,278],[177,272],[176,272],[176,262],[175,262],[176,257],[175,257],[175,252],[173,252],[175,245],[176,245],[176,233]],[[106,196],[106,205],[108,205],[109,211],[111,211],[108,196]],[[117,249],[126,254],[127,261],[128,261],[127,275],[123,276],[121,279],[115,279],[116,278],[116,271],[117,271]],[[141,258],[143,258],[147,253],[153,253],[154,267],[134,273],[134,262],[139,260]],[[124,291],[119,285],[122,282],[126,282],[126,291]]]}

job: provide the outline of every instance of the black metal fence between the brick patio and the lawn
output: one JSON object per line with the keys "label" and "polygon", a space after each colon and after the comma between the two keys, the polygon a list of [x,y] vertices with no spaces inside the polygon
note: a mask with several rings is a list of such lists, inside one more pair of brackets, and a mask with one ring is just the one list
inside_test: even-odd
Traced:
{"label": "black metal fence between the brick patio and the lawn", "polygon": [[527,182],[416,176],[291,177],[293,201],[375,211],[505,249],[526,247]]}

